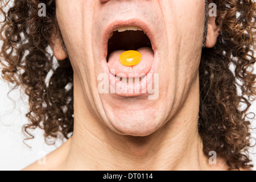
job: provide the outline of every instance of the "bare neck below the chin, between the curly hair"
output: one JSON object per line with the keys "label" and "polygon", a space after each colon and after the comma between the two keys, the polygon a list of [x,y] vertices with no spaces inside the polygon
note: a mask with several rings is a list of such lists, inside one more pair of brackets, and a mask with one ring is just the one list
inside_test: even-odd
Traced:
{"label": "bare neck below the chin, between the curly hair", "polygon": [[73,137],[64,144],[69,148],[66,169],[200,170],[209,165],[197,130],[199,81],[192,85],[179,113],[147,137],[114,133],[82,102],[79,84],[74,86],[75,125]]}

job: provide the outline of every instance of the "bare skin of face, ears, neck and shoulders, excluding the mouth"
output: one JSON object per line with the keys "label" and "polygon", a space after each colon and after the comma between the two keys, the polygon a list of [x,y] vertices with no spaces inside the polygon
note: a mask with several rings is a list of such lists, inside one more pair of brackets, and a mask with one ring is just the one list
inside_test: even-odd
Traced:
{"label": "bare skin of face, ears, neck and shoulders, excluding the mouth", "polygon": [[[74,133],[46,156],[46,165],[35,162],[25,170],[228,169],[221,158],[208,163],[197,130],[204,0],[56,0],[56,6],[74,70]],[[156,38],[157,100],[97,92],[97,76],[105,72],[103,30],[113,20],[136,18],[151,24]],[[216,44],[214,20],[206,47]],[[57,59],[67,57],[60,34],[52,36],[51,47]]]}

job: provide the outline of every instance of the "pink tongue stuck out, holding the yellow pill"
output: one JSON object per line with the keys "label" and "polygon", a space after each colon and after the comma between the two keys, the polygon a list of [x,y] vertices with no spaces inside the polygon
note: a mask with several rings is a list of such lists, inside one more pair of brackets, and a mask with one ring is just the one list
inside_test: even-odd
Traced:
{"label": "pink tongue stuck out, holding the yellow pill", "polygon": [[[126,67],[120,63],[119,57],[125,52],[124,50],[114,51],[109,55],[108,68],[114,75],[124,74],[126,77],[138,77],[141,75],[147,75],[152,68],[154,51],[150,47],[142,47],[137,49],[141,53],[142,60],[139,64],[133,67]],[[134,76],[133,76],[134,75]]]}

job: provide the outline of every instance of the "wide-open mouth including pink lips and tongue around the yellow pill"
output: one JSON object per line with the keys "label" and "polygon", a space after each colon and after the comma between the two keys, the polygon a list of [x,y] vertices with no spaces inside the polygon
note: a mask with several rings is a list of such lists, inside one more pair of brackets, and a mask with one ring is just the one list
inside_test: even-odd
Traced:
{"label": "wide-open mouth including pink lips and tongue around the yellow pill", "polygon": [[[140,37],[139,32],[130,32],[130,34],[126,32],[122,35],[115,35],[114,32],[117,30],[118,32],[120,30],[120,32],[142,31],[143,35]],[[110,23],[105,28],[102,36],[102,61],[107,67],[106,71],[108,71],[110,87],[117,90],[115,94],[125,97],[139,96],[144,94],[145,90],[147,90],[147,85],[152,83],[154,63],[158,57],[155,37],[151,30],[150,25],[138,19],[118,20]],[[130,37],[127,38],[126,34],[130,35]],[[112,46],[109,44],[110,38],[114,39],[112,40]],[[142,54],[141,63],[133,67],[126,67],[119,63],[119,55],[129,49],[135,49]],[[148,76],[148,73],[150,73],[150,76]]]}

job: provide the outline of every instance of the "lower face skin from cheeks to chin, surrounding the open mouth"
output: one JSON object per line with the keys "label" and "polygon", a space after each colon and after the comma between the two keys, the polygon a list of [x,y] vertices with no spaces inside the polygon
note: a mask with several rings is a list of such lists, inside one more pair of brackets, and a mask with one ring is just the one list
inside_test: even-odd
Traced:
{"label": "lower face skin from cheeks to chin, surrounding the open mouth", "polygon": [[[84,102],[100,118],[97,120],[116,133],[143,136],[163,126],[182,105],[181,98],[190,89],[198,69],[203,2],[57,1],[57,19],[74,70],[76,89],[79,87],[85,98],[79,102]],[[195,18],[189,20],[191,17]],[[98,76],[110,75],[106,59],[109,37],[115,28],[123,26],[141,27],[150,39],[154,51],[151,71],[159,74],[156,100],[148,100],[148,93],[98,93]]]}

